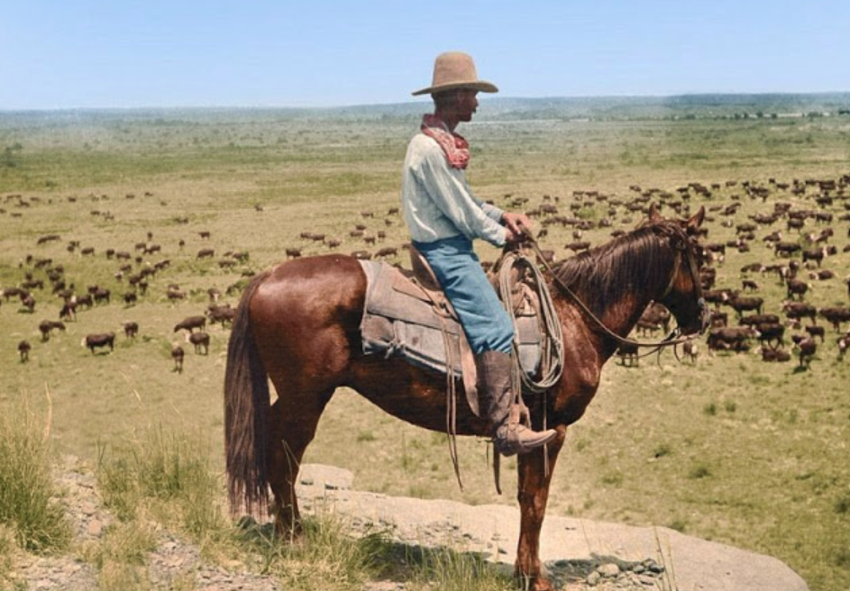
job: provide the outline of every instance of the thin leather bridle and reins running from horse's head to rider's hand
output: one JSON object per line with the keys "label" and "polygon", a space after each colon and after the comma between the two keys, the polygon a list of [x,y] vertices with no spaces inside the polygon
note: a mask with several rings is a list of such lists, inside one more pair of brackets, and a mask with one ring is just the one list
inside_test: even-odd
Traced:
{"label": "thin leather bridle and reins running from horse's head to rider's hand", "polygon": [[[617,341],[619,345],[627,345],[629,347],[652,348],[653,350],[647,353],[652,354],[656,350],[661,350],[665,347],[671,347],[679,345],[686,341],[693,340],[694,337],[692,335],[682,336],[681,330],[678,327],[673,329],[673,331],[666,337],[664,337],[662,341],[656,342],[633,341],[632,339],[626,339],[625,337],[621,337],[620,335],[618,335],[616,332],[611,331],[608,326],[605,325],[605,323],[599,320],[599,317],[597,317],[596,314],[593,314],[593,312],[590,311],[590,308],[584,302],[581,301],[580,297],[575,295],[575,293],[570,289],[570,286],[567,286],[567,284],[563,282],[561,277],[558,277],[558,274],[554,271],[552,266],[544,257],[543,251],[540,250],[540,245],[537,243],[535,237],[531,235],[531,232],[529,232],[525,228],[523,229],[523,232],[526,235],[528,243],[531,244],[532,249],[535,251],[537,259],[540,260],[546,271],[553,277],[554,285],[557,286],[565,296],[568,296],[573,301],[573,303],[575,303],[575,305],[579,307],[582,314],[588,316],[590,320],[599,327],[599,330],[601,332],[608,336],[608,338]],[[679,234],[681,242],[680,245],[672,246],[672,248],[676,250],[675,260],[673,262],[673,270],[670,277],[670,283],[664,290],[662,299],[668,296],[670,292],[672,292],[673,286],[675,286],[676,284],[676,278],[679,277],[679,272],[681,269],[682,252],[684,252],[685,260],[687,261],[688,270],[690,272],[690,278],[693,282],[694,290],[697,296],[697,306],[699,307],[700,315],[699,334],[702,334],[708,327],[708,317],[710,312],[708,310],[708,305],[706,304],[705,297],[702,294],[702,284],[699,281],[699,270],[697,267],[696,255],[694,254],[694,245],[688,235],[683,230],[681,230],[681,228],[676,227],[673,232]]]}

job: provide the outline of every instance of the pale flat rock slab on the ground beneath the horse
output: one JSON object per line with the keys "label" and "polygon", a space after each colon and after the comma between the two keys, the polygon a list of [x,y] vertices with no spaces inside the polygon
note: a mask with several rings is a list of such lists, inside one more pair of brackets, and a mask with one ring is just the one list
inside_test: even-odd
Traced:
{"label": "pale flat rock slab on the ground beneath the horse", "polygon": [[[315,464],[301,467],[299,499],[316,510],[324,506],[355,526],[379,526],[404,543],[450,545],[481,552],[489,560],[513,564],[519,537],[519,509],[508,505],[464,505],[351,490],[348,470]],[[347,474],[346,474],[347,473]],[[328,475],[345,486],[325,486]],[[349,479],[351,477],[351,479]],[[778,559],[713,541],[700,540],[664,527],[547,514],[540,540],[540,559],[592,565],[640,564],[651,559],[663,566],[668,583],[694,591],[808,591],[809,586]],[[590,569],[592,570],[592,568]]]}

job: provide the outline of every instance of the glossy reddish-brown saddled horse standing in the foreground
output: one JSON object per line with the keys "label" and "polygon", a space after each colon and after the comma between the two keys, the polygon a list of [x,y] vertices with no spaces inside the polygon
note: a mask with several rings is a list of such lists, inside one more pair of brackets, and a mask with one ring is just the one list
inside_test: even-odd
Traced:
{"label": "glossy reddish-brown saddled horse standing in the foreground", "polygon": [[[635,326],[646,306],[666,305],[681,332],[704,329],[699,286],[702,250],[696,241],[704,210],[687,221],[649,219],[597,249],[555,269],[555,309],[565,338],[566,368],[548,396],[526,396],[532,423],[544,420],[558,436],[547,448],[518,459],[521,532],[516,574],[527,588],[552,589],[541,572],[538,547],[549,485],[567,425],[578,421],[599,387],[602,365],[617,338]],[[224,424],[228,489],[234,513],[268,508],[269,488],[279,533],[300,531],[295,483],[298,467],[334,390],[348,386],[389,414],[445,431],[445,377],[398,359],[362,354],[359,325],[366,276],[352,257],[292,259],[254,277],[242,296],[227,353]],[[557,283],[585,304],[608,331]],[[278,399],[270,404],[267,376]],[[461,405],[459,405],[461,406]],[[487,434],[487,424],[462,405],[457,432]],[[544,457],[548,454],[548,458]],[[548,471],[544,469],[548,460]]]}

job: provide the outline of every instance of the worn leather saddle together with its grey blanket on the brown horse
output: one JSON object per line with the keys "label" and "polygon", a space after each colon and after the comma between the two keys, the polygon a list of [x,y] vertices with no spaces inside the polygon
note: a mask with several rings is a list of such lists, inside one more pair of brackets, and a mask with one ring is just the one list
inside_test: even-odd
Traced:
{"label": "worn leather saddle together with its grey blanket on the brown horse", "polygon": [[[447,377],[460,378],[472,412],[479,414],[472,350],[425,257],[411,246],[411,270],[370,260],[360,263],[369,282],[361,321],[363,352],[385,359],[398,357]],[[510,305],[521,367],[536,373],[544,338],[539,297],[518,273],[514,275]],[[498,277],[494,274],[489,279],[498,293]]]}

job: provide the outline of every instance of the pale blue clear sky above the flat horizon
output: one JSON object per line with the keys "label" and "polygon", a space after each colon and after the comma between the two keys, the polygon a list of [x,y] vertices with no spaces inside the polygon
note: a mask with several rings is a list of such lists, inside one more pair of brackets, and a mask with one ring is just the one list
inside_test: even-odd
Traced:
{"label": "pale blue clear sky above the flat horizon", "polygon": [[850,1],[0,0],[0,109],[407,102],[444,50],[505,96],[847,91]]}

